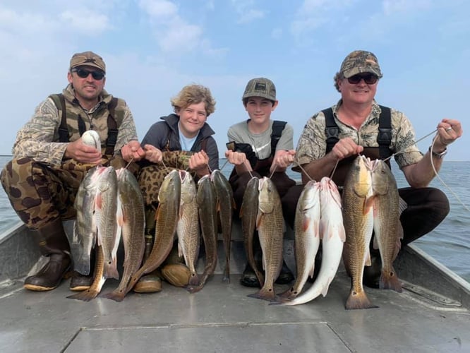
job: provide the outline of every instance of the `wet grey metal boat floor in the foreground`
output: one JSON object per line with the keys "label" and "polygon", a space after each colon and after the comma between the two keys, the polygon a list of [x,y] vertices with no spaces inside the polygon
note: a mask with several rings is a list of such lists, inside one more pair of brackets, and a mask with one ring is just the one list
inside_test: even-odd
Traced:
{"label": "wet grey metal boat floor in the foreground", "polygon": [[[247,297],[258,289],[210,277],[202,291],[166,282],[153,294],[121,302],[66,298],[68,281],[30,292],[13,281],[0,289],[1,352],[470,352],[470,315],[404,289],[369,289],[377,309],[345,310],[344,270],[326,297],[271,306]],[[117,287],[107,280],[102,293]],[[306,288],[310,284],[306,284]],[[406,286],[405,286],[406,287]],[[287,285],[276,285],[277,294]]]}

